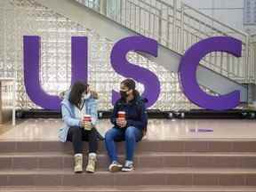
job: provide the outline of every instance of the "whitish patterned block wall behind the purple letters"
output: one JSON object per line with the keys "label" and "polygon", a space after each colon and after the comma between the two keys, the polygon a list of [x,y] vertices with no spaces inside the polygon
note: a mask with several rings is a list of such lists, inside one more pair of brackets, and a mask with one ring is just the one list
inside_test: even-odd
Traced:
{"label": "whitish patterned block wall behind the purple letters", "polygon": [[[45,92],[59,94],[68,89],[71,79],[71,36],[88,36],[88,81],[100,94],[100,110],[112,107],[111,91],[118,91],[124,79],[111,68],[110,51],[114,42],[99,36],[93,28],[86,28],[68,20],[33,0],[0,1],[0,77],[17,75],[18,108],[39,108],[29,100],[23,79],[23,36],[41,36],[40,81]],[[152,107],[160,110],[196,108],[180,90],[178,76],[156,63],[131,52],[130,62],[148,68],[158,76],[162,92]],[[138,84],[143,92],[143,84]],[[208,90],[205,90],[209,92]]]}

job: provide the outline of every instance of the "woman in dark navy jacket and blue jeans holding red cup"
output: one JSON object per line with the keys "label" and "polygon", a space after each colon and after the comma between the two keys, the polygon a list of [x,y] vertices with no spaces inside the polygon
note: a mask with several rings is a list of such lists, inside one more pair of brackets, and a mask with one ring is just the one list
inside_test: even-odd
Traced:
{"label": "woman in dark navy jacket and blue jeans holding red cup", "polygon": [[[136,90],[132,79],[125,79],[120,85],[121,99],[116,101],[111,123],[114,127],[105,135],[105,145],[110,158],[108,170],[110,172],[129,172],[134,169],[133,154],[136,143],[139,142],[147,131],[148,116],[144,100]],[[123,115],[121,118],[118,114]],[[126,161],[118,162],[115,141],[125,140]]]}

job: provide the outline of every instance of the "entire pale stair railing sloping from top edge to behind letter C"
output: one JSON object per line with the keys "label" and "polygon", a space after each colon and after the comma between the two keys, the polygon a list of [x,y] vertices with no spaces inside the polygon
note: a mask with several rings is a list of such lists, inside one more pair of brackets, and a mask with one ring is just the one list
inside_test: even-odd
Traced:
{"label": "entire pale stair railing sloping from top edge to behind letter C", "polygon": [[200,64],[239,83],[255,83],[250,36],[177,0],[76,0],[159,44],[183,54],[211,36],[232,36],[243,43],[242,57],[212,52]]}

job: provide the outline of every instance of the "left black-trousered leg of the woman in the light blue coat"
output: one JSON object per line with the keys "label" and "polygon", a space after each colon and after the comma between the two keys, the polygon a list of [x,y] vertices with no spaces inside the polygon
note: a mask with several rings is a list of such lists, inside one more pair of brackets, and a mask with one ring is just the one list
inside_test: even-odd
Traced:
{"label": "left black-trousered leg of the woman in the light blue coat", "polygon": [[83,152],[83,129],[81,127],[72,126],[68,129],[68,141],[73,144],[75,154]]}

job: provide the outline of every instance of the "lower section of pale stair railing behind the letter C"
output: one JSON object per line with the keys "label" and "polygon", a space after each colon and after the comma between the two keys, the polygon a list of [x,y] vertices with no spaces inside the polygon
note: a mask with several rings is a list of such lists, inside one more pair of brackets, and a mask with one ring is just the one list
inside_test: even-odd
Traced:
{"label": "lower section of pale stair railing behind the letter C", "polygon": [[254,82],[250,74],[249,36],[243,31],[231,28],[188,4],[181,4],[181,52],[201,39],[210,36],[232,36],[242,41],[242,57],[236,58],[225,52],[212,52],[201,60],[207,68],[240,83]]}

